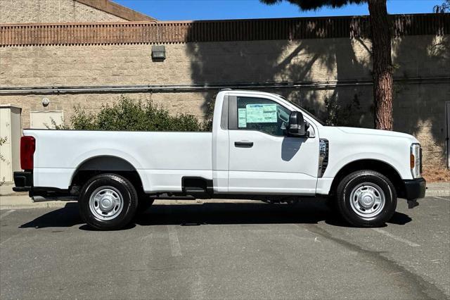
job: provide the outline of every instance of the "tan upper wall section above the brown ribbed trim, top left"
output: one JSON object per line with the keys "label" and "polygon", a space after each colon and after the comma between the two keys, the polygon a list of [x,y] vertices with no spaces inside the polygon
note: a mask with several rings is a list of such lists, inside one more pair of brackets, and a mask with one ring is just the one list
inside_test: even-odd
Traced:
{"label": "tan upper wall section above the brown ribbed trim, top left", "polygon": [[116,21],[125,20],[73,0],[0,0],[0,23]]}

